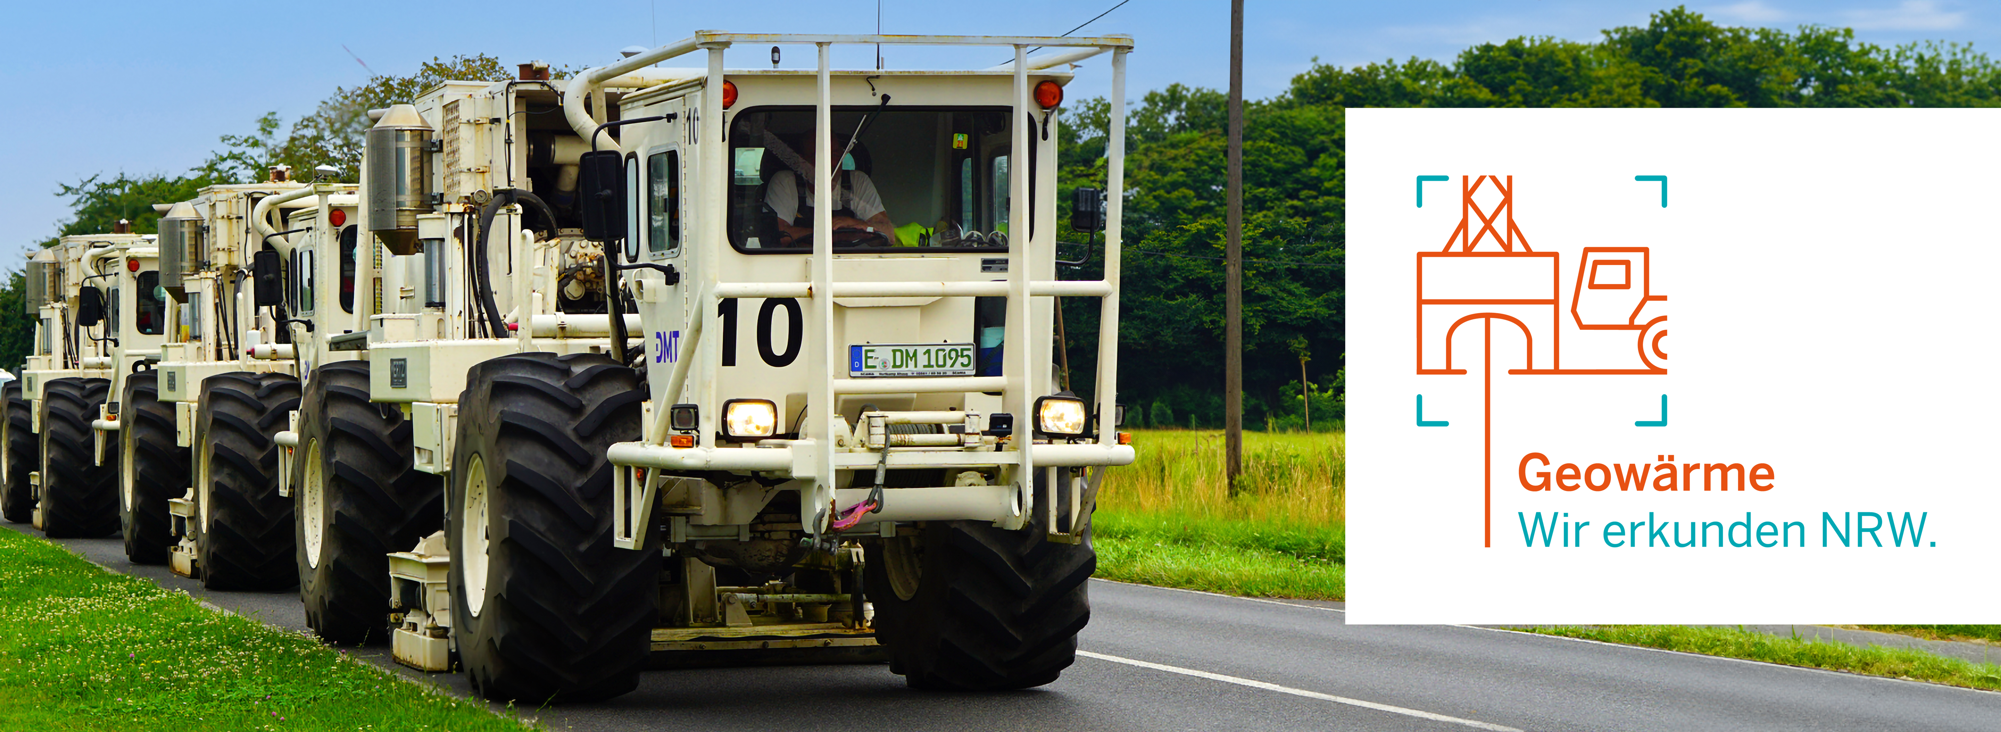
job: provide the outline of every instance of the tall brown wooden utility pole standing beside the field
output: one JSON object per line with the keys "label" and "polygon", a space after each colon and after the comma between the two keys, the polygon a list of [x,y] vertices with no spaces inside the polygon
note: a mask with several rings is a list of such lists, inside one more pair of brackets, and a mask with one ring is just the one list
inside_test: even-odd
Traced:
{"label": "tall brown wooden utility pole standing beside the field", "polygon": [[1231,0],[1231,212],[1229,294],[1225,300],[1223,430],[1229,452],[1229,492],[1245,472],[1245,0]]}

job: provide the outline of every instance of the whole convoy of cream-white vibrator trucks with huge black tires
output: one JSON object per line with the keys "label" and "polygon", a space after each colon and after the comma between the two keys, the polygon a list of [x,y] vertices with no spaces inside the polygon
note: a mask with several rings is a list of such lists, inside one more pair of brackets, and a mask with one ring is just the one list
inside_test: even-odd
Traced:
{"label": "whole convoy of cream-white vibrator trucks with huge black tires", "polygon": [[[844,44],[1015,60],[834,70]],[[1121,190],[1131,46],[696,32],[564,80],[442,82],[370,112],[358,184],[174,202],[158,272],[144,248],[36,254],[76,300],[44,332],[84,334],[64,276],[114,258],[172,306],[150,344],[42,336],[22,402],[128,372],[96,428],[134,562],[296,584],[328,642],[488,698],[608,698],[648,664],[1047,684],[1089,622],[1097,490],[1133,462],[1121,196],[1075,196],[1105,276],[1059,280],[1053,128],[1067,64],[1109,52]],[[1101,300],[1089,400],[1055,378],[1055,296]],[[10,520],[18,422],[10,400]],[[68,486],[48,474],[26,486]]]}

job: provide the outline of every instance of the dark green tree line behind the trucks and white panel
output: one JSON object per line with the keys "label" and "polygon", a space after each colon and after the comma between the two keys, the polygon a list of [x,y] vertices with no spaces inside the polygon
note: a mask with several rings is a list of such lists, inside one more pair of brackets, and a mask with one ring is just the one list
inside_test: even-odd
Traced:
{"label": "dark green tree line behind the trucks and white panel", "polygon": [[[356,180],[366,110],[412,102],[446,78],[506,80],[492,56],[434,58],[408,76],[338,88],[288,128],[266,114],[250,134],[184,174],[92,176],[58,186],[74,216],[60,234],[106,232],[118,218],[154,232],[152,204],[218,182],[262,180],[272,164]],[[1119,388],[1129,424],[1223,424],[1223,248],[1227,94],[1171,84],[1129,104]],[[1877,46],[1849,28],[1733,28],[1699,12],[1655,12],[1595,42],[1521,36],[1471,46],[1451,62],[1315,60],[1273,98],[1245,102],[1245,424],[1335,428],[1345,402],[1345,110],[1367,106],[2001,106],[2001,64],[1971,46]],[[1065,104],[1059,200],[1105,186],[1111,106]],[[1067,216],[1065,216],[1067,218]],[[1065,278],[1095,278],[1087,234],[1063,228]],[[58,234],[58,236],[60,236]],[[52,244],[50,238],[46,244]],[[16,272],[0,308],[20,308]],[[1095,298],[1063,310],[1073,388],[1097,370]],[[20,364],[32,322],[0,318],[0,364]],[[1309,404],[1311,398],[1311,404]]]}

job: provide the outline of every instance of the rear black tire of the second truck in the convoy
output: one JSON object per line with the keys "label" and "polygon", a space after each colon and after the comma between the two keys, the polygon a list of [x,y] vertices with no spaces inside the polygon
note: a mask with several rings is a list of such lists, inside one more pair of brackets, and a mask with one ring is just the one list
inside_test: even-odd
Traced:
{"label": "rear black tire of the second truck in the convoy", "polygon": [[160,402],[160,372],[126,376],[118,398],[118,508],[126,560],[164,564],[174,544],[168,498],[192,484],[188,448],[176,440],[174,404]]}

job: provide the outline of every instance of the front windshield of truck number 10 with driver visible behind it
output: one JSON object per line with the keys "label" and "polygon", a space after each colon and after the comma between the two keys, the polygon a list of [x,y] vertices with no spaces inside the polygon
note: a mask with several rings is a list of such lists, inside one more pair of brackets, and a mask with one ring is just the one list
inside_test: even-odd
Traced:
{"label": "front windshield of truck number 10 with driver visible behind it", "polygon": [[[830,154],[848,150],[834,186],[836,248],[1007,248],[1015,168],[1007,110],[834,108],[832,140]],[[814,160],[812,108],[738,112],[728,144],[730,244],[744,254],[810,250],[812,190],[800,180]]]}

